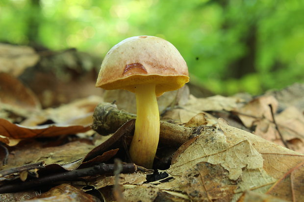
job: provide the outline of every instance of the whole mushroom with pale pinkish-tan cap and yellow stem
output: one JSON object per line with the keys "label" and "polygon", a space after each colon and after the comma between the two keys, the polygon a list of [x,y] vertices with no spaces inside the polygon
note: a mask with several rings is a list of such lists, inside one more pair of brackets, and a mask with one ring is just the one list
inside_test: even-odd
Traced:
{"label": "whole mushroom with pale pinkish-tan cap and yellow stem", "polygon": [[136,95],[137,118],[129,153],[133,162],[152,168],[159,139],[156,97],[189,82],[188,67],[177,48],[153,36],[130,37],[105,55],[96,87]]}

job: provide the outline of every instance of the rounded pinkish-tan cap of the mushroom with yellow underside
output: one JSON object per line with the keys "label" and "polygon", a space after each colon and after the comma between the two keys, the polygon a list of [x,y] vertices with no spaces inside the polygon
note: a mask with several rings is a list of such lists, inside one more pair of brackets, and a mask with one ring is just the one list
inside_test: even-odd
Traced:
{"label": "rounded pinkish-tan cap of the mushroom with yellow underside", "polygon": [[136,36],[114,45],[105,55],[96,87],[135,92],[135,85],[155,83],[156,96],[189,82],[188,67],[177,48],[154,36]]}

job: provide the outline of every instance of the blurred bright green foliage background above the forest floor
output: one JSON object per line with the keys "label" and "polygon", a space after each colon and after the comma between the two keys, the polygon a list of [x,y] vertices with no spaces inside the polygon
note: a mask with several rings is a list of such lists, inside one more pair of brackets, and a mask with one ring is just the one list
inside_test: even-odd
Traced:
{"label": "blurred bright green foliage background above the forest floor", "polygon": [[1,0],[0,41],[103,57],[136,35],[162,37],[191,80],[219,94],[304,81],[303,0]]}

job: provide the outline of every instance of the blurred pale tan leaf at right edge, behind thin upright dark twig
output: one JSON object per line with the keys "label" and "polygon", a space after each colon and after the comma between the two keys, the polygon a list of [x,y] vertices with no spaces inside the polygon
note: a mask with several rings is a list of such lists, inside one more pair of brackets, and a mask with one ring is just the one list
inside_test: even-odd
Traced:
{"label": "blurred pale tan leaf at right edge, behind thin upright dark twig", "polygon": [[[276,122],[273,120],[269,105],[273,108]],[[278,101],[274,97],[261,96],[236,111],[246,127],[255,126],[255,135],[281,146],[284,146],[283,141],[287,141],[290,149],[303,153],[304,114],[295,107],[288,107],[276,113],[277,108]]]}

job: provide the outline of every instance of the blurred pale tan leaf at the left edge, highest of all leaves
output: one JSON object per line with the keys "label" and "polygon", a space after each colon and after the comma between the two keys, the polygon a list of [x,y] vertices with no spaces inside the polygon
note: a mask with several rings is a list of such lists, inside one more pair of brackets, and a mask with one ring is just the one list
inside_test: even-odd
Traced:
{"label": "blurred pale tan leaf at the left edge, highest of all leaves", "polygon": [[38,60],[39,55],[31,47],[0,44],[1,72],[6,72],[17,77],[27,67],[34,66]]}

